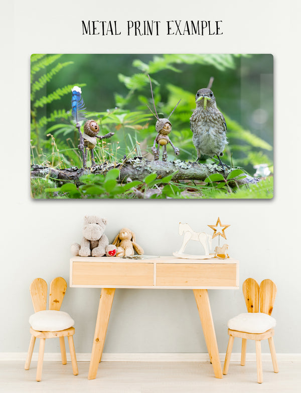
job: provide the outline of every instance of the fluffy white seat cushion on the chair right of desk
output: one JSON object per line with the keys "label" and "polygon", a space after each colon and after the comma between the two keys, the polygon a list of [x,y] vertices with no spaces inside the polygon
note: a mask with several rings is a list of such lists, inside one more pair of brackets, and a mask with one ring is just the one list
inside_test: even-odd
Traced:
{"label": "fluffy white seat cushion on the chair right of desk", "polygon": [[247,333],[263,333],[274,326],[275,318],[265,313],[243,313],[228,321],[229,329]]}

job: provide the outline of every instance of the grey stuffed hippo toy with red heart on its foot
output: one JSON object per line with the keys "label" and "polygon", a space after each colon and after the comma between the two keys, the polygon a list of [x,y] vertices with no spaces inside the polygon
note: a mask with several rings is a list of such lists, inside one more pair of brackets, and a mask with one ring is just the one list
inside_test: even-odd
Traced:
{"label": "grey stuffed hippo toy with red heart on its foot", "polygon": [[71,253],[74,256],[115,256],[116,246],[109,244],[104,234],[107,225],[106,218],[97,216],[85,216],[83,238],[81,243],[71,245]]}

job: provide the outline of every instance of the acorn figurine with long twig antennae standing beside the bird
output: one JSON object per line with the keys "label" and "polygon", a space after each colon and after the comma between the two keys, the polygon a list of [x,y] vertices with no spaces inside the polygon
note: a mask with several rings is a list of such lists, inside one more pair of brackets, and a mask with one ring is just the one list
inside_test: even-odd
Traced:
{"label": "acorn figurine with long twig antennae standing beside the bird", "polygon": [[[147,75],[147,76],[149,78],[149,75]],[[152,153],[154,154],[154,161],[158,161],[159,160],[159,153],[160,153],[160,146],[162,146],[164,149],[163,153],[162,153],[162,161],[167,161],[166,147],[169,143],[171,144],[172,148],[174,149],[176,156],[178,156],[180,154],[180,150],[173,145],[173,143],[170,140],[168,135],[172,131],[172,123],[170,122],[169,118],[171,117],[171,115],[173,114],[174,110],[179,105],[179,102],[181,100],[174,107],[174,109],[172,110],[172,112],[168,116],[168,118],[159,118],[157,110],[156,110],[156,106],[155,106],[155,101],[154,101],[152,81],[150,80],[150,78],[149,78],[149,83],[150,83],[150,91],[152,91],[153,103],[154,103],[154,108],[155,108],[156,114],[152,111],[152,109],[150,109],[150,107],[148,105],[147,105],[147,107],[153,113],[153,115],[157,118],[156,131],[158,133],[157,137],[155,138],[154,145],[152,147]],[[156,144],[158,145],[157,149],[156,149]]]}

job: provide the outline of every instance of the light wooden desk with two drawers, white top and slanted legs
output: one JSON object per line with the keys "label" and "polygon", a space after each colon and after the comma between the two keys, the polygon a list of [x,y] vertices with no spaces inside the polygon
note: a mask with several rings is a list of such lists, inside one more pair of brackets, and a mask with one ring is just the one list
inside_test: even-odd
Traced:
{"label": "light wooden desk with two drawers, white top and slanted legs", "polygon": [[95,379],[101,360],[115,288],[192,289],[216,378],[222,378],[208,289],[238,289],[238,261],[180,259],[160,256],[132,260],[118,257],[70,259],[70,287],[102,288],[88,379]]}

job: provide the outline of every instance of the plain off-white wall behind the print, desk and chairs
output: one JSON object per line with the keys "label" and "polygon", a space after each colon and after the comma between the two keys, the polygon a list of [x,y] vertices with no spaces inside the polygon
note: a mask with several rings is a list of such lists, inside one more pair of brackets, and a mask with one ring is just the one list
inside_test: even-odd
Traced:
{"label": "plain off-white wall behind the print, desk and chairs", "polygon": [[[81,237],[85,214],[108,218],[112,240],[122,226],[137,233],[145,253],[171,254],[179,248],[179,221],[196,230],[207,224],[231,224],[230,254],[240,260],[240,284],[247,277],[271,278],[278,287],[273,316],[276,350],[301,353],[296,341],[299,310],[299,63],[296,40],[297,1],[228,0],[195,2],[98,1],[14,2],[14,25],[5,21],[2,94],[2,223],[0,352],[27,351],[28,317],[33,312],[29,285],[69,279],[70,244]],[[130,8],[129,5],[132,5]],[[291,9],[290,9],[291,5]],[[12,17],[11,5],[6,5]],[[292,12],[291,12],[292,10]],[[291,15],[290,15],[291,13]],[[290,19],[291,18],[291,19]],[[223,20],[220,37],[88,37],[81,20]],[[295,24],[294,24],[295,22]],[[2,35],[3,36],[3,35]],[[13,36],[15,44],[13,46]],[[30,198],[29,96],[32,53],[272,53],[274,55],[275,196],[273,200],[50,200]],[[122,69],[122,65],[120,65]],[[15,84],[13,79],[15,78]],[[3,88],[3,85],[2,85]],[[298,95],[297,95],[298,93]],[[293,110],[290,111],[290,107]],[[12,119],[12,120],[11,120]],[[9,125],[9,128],[6,126]],[[9,146],[10,129],[15,141]],[[6,135],[5,135],[6,130]],[[14,148],[14,150],[12,150]],[[296,254],[296,256],[294,256]],[[76,322],[77,352],[91,351],[100,289],[68,288],[63,309]],[[229,317],[244,312],[241,289],[210,291],[220,352],[227,344]],[[59,351],[49,342],[47,351]],[[234,351],[239,351],[238,342]],[[267,351],[263,347],[263,351]],[[105,352],[206,352],[195,300],[190,290],[116,290]],[[248,351],[253,351],[250,344]]]}

